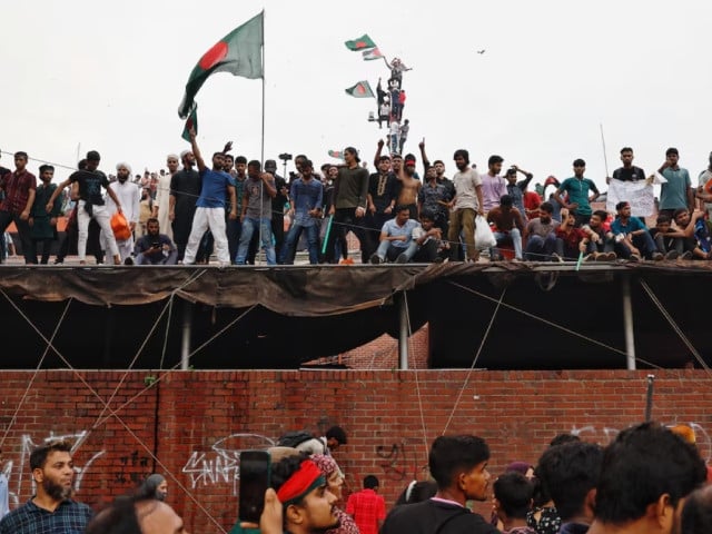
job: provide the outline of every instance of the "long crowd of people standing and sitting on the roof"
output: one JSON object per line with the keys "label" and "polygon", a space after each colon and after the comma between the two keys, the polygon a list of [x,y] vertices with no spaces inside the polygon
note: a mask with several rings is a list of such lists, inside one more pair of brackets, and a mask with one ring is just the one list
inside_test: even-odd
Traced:
{"label": "long crowd of people standing and sitting on the roof", "polygon": [[[320,172],[298,155],[287,179],[275,160],[263,168],[259,160],[233,157],[230,142],[206,161],[195,132],[190,140],[189,150],[167,157],[167,172],[131,179],[131,167],[119,162],[107,177],[99,152],[91,150],[59,185],[52,184],[50,165],[40,166],[38,185],[28,155],[17,152],[14,170],[0,167],[0,234],[14,222],[24,261],[47,264],[69,199],[56,264],[75,244],[80,264],[88,248],[97,263],[106,256],[127,265],[205,264],[214,254],[220,266],[254,265],[260,250],[267,265],[294,264],[299,250],[313,265],[353,263],[348,233],[357,238],[363,264],[712,258],[712,155],[693,185],[679,151],[666,150],[656,172],[663,179],[657,215],[649,227],[632,212],[632,199],[621,199],[615,212],[595,209],[602,194],[580,158],[572,177],[550,177],[544,188],[530,190],[532,172],[512,165],[502,176],[504,158],[497,155],[478,171],[465,149],[454,152],[457,170],[448,178],[443,160],[428,159],[424,141],[422,177],[415,155],[393,147],[384,155],[380,140],[375,172],[347,147],[342,164],[325,164]],[[654,176],[633,159],[632,148],[624,147],[622,167],[606,180],[652,184]],[[545,197],[550,184],[555,190]],[[117,214],[129,227],[126,236],[115,228]]]}

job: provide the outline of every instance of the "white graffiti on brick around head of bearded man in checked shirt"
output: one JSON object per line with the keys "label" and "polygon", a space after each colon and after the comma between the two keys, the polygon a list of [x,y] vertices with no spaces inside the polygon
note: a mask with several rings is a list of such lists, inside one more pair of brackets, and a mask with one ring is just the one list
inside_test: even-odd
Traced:
{"label": "white graffiti on brick around head of bearded man in checked shirt", "polygon": [[[30,454],[32,449],[42,443],[52,442],[56,439],[67,439],[72,444],[71,452],[72,454],[77,451],[89,437],[89,432],[81,431],[76,434],[55,434],[50,432],[49,435],[42,439],[39,439],[37,443],[32,439],[29,434],[22,435],[20,439],[20,457],[17,461],[17,469],[14,468],[16,462],[14,459],[9,459],[2,472],[8,477],[8,486],[10,487],[10,503],[19,504],[20,496],[24,495],[33,495],[36,491],[36,484],[32,476],[30,476]],[[81,482],[87,474],[87,471],[91,467],[91,464],[96,462],[96,459],[103,455],[106,451],[98,451],[96,453],[91,453],[91,456],[83,466],[79,466],[75,464],[75,490],[79,492],[81,490]]]}

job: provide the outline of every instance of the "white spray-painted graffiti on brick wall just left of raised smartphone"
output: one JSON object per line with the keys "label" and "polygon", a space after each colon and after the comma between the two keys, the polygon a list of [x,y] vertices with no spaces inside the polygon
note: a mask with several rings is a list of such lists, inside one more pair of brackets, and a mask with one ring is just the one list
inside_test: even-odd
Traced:
{"label": "white spray-painted graffiti on brick wall just left of raised smartphone", "polygon": [[273,439],[259,434],[233,434],[215,442],[211,453],[194,451],[182,472],[190,476],[194,490],[198,485],[231,483],[233,495],[237,495],[240,451],[274,445]]}

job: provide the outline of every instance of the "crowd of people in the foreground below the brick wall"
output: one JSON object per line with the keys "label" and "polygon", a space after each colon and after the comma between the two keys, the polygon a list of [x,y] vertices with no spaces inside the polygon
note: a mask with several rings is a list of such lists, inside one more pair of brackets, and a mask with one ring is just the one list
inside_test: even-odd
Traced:
{"label": "crowd of people in the foreground below the brick wall", "polygon": [[[238,520],[231,534],[712,531],[710,468],[686,425],[633,425],[605,447],[560,434],[535,465],[514,462],[496,478],[487,467],[491,452],[485,439],[443,435],[431,446],[428,478],[408,484],[388,513],[374,475],[364,477],[363,490],[344,500],[344,475],[332,454],[339,443],[316,441],[320,443],[316,451],[268,449],[269,487],[259,523]],[[0,534],[187,533],[182,518],[165,502],[168,484],[161,475],[149,476],[132,494],[95,512],[72,496],[69,443],[37,447],[30,468],[37,494],[4,515]],[[490,517],[473,511],[476,502],[492,503]]]}

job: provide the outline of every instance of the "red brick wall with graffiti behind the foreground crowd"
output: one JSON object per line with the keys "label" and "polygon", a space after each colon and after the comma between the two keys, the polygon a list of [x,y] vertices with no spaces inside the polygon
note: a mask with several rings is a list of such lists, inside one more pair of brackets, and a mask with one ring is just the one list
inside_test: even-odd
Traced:
{"label": "red brick wall with graffiti behind the foreground crowd", "polygon": [[[170,473],[168,502],[187,528],[222,532],[237,513],[236,451],[266,446],[285,431],[344,426],[349,444],[335,456],[347,491],[376,474],[390,506],[408,481],[423,475],[428,444],[444,431],[485,437],[491,471],[498,474],[512,461],[534,463],[557,433],[605,444],[641,421],[646,375],[267,370],[174,372],[161,378],[157,372],[3,372],[4,471],[11,501],[24,502],[32,493],[33,444],[70,436],[78,443],[79,500],[98,506],[152,471]],[[695,369],[655,375],[653,416],[692,423],[709,458],[712,377]],[[161,379],[146,389],[155,378]],[[478,510],[487,512],[488,505]]]}

